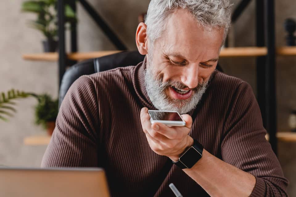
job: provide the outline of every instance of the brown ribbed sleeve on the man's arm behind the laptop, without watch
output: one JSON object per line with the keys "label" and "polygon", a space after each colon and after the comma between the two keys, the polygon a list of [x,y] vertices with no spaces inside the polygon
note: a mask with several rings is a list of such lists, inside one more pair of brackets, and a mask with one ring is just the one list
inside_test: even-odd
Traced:
{"label": "brown ribbed sleeve on the man's arm behind the laptop, without watch", "polygon": [[69,88],[41,167],[97,167],[97,93],[88,76]]}

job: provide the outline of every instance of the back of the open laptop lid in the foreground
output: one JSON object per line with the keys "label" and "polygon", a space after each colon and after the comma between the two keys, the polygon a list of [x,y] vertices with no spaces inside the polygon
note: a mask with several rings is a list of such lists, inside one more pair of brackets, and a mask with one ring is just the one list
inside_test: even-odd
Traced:
{"label": "back of the open laptop lid in the foreground", "polygon": [[0,168],[1,197],[109,197],[101,168]]}

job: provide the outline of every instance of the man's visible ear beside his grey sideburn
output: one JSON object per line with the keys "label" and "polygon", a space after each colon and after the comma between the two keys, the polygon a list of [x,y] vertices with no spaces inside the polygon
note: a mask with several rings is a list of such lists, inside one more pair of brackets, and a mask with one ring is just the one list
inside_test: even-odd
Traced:
{"label": "man's visible ear beside his grey sideburn", "polygon": [[140,54],[146,55],[148,53],[147,26],[143,22],[140,22],[137,28],[136,44]]}

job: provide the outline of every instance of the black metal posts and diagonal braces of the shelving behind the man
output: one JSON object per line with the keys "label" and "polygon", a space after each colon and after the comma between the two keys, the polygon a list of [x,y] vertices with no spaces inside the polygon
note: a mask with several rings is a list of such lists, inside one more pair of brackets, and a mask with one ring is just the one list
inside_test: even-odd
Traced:
{"label": "black metal posts and diagonal braces of the shelving behind the man", "polygon": [[[111,42],[119,50],[126,50],[126,46],[116,34],[109,28],[99,14],[92,8],[87,0],[78,0],[94,21],[101,27]],[[242,0],[232,15],[235,22],[251,0]],[[70,5],[76,10],[76,2]],[[65,28],[64,28],[64,0],[58,0],[59,17],[59,86],[68,62],[65,52]],[[71,24],[71,51],[76,52],[77,30],[76,24]],[[265,32],[265,34],[264,34]],[[275,86],[275,29],[274,29],[274,0],[256,0],[256,45],[267,46],[266,57],[257,58],[257,97],[262,113],[262,119],[266,130],[269,132],[269,142],[273,151],[277,154],[277,116],[276,116],[276,86]],[[227,42],[226,42],[227,46]]]}

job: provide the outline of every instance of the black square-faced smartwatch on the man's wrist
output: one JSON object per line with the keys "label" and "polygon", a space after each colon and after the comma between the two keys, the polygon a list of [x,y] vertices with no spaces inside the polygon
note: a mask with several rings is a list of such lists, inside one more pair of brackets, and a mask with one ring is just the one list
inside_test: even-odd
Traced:
{"label": "black square-faced smartwatch on the man's wrist", "polygon": [[180,157],[179,161],[173,162],[181,169],[191,168],[203,156],[204,147],[193,139],[193,146],[189,147]]}

